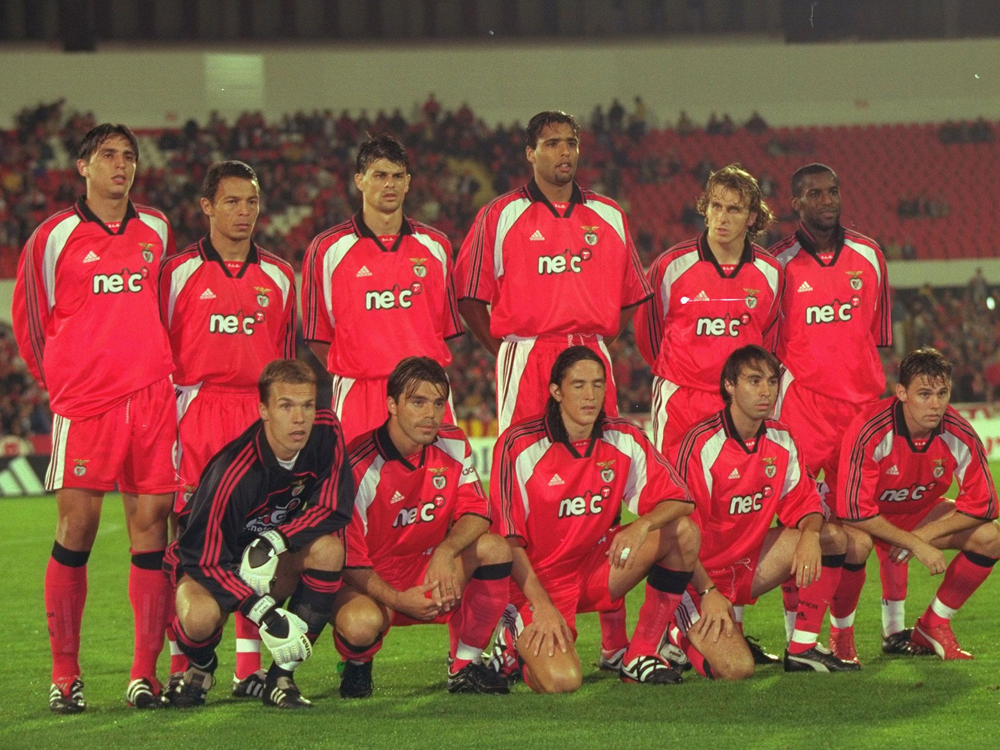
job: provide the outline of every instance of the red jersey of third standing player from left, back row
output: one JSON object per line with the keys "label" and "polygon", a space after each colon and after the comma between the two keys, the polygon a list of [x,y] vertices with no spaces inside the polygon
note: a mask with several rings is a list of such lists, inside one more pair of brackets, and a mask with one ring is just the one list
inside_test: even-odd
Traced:
{"label": "red jersey of third standing player from left, back row", "polygon": [[318,235],[302,261],[302,330],[330,343],[326,367],[384,378],[400,359],[451,362],[445,339],[463,333],[451,278],[451,243],[403,219],[386,247],[361,213]]}

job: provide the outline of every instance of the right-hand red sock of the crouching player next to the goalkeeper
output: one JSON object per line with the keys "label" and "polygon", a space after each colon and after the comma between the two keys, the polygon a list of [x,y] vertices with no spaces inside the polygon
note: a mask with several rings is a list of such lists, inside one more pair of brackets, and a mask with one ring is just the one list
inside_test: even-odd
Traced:
{"label": "right-hand red sock of the crouching player next to the goalkeeper", "polygon": [[512,563],[480,565],[462,592],[456,616],[461,617],[458,641],[449,655],[454,659],[452,672],[478,659],[490,642],[493,630],[507,606]]}

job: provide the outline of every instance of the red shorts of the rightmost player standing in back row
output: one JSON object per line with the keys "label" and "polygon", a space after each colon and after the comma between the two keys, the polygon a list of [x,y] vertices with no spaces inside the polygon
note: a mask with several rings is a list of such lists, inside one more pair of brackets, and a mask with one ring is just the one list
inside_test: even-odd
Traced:
{"label": "red shorts of the rightmost player standing in back row", "polygon": [[830,488],[824,501],[837,507],[837,462],[840,444],[854,418],[877,399],[854,404],[803,387],[785,371],[774,406],[774,418],[791,431],[802,450],[806,468],[813,476],[823,470],[823,481]]}

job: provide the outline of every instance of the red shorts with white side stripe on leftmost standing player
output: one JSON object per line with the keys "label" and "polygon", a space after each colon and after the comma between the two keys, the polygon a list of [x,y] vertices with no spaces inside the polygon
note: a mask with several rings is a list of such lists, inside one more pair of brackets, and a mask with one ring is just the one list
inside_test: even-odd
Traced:
{"label": "red shorts with white side stripe on leftmost standing player", "polygon": [[45,489],[80,487],[165,495],[177,489],[174,387],[158,380],[102,414],[52,421],[52,458]]}

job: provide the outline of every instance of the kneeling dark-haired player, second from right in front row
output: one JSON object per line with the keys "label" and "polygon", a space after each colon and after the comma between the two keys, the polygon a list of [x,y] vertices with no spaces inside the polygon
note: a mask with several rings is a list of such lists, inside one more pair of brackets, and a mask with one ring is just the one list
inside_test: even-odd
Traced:
{"label": "kneeling dark-haired player, second from right in front row", "polygon": [[[695,668],[739,680],[754,659],[734,622],[733,606],[795,576],[801,588],[786,672],[833,672],[858,665],[817,643],[840,580],[847,537],[823,522],[816,485],[788,429],[768,419],[778,395],[780,365],[751,345],[726,360],[720,392],[726,407],[684,435],[675,464],[694,499],[702,545],[693,591],[677,611],[676,641]],[[771,528],[775,516],[781,526]]]}

